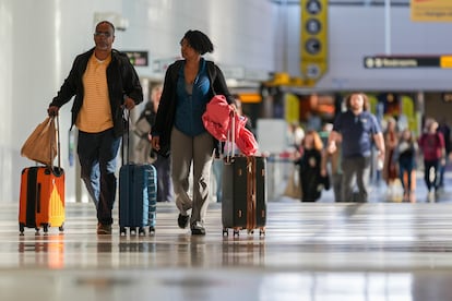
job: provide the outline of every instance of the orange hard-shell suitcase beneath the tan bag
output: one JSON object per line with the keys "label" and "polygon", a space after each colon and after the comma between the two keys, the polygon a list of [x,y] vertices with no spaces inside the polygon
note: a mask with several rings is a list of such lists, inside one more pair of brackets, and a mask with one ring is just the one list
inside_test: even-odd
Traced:
{"label": "orange hard-shell suitcase beneath the tan bag", "polygon": [[19,205],[19,229],[40,228],[64,224],[64,170],[60,167],[36,166],[22,170]]}

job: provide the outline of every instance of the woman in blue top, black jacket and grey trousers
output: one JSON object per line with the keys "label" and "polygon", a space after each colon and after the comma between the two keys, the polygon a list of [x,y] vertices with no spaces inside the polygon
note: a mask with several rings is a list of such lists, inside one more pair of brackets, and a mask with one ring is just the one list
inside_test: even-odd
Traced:
{"label": "woman in blue top, black jacket and grey trousers", "polygon": [[[183,60],[169,65],[165,74],[160,105],[152,129],[152,146],[162,155],[171,154],[179,227],[186,228],[190,222],[192,234],[205,234],[210,173],[214,147],[218,144],[205,130],[202,115],[215,94],[225,95],[229,104],[234,98],[219,68],[202,57],[214,50],[204,33],[188,31],[180,40],[180,47]],[[193,195],[188,193],[190,172],[193,176]]]}

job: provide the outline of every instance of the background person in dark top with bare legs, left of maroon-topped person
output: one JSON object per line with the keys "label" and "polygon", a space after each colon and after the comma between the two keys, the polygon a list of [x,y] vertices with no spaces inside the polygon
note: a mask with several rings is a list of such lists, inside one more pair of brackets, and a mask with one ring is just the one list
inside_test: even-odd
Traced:
{"label": "background person in dark top with bare legs, left of maroon-topped person", "polygon": [[415,198],[416,188],[416,157],[417,142],[409,129],[402,131],[397,145],[394,148],[394,161],[399,164],[399,177],[403,188],[403,201],[412,202]]}

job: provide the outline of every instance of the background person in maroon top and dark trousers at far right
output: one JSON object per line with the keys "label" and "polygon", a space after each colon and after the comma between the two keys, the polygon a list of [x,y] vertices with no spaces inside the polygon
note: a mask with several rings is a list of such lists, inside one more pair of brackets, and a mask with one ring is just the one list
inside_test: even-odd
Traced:
{"label": "background person in maroon top and dark trousers at far right", "polygon": [[442,133],[438,132],[438,122],[426,121],[426,130],[419,137],[419,149],[424,157],[424,180],[427,185],[428,201],[435,201],[438,194],[438,173],[440,165],[445,165],[445,146]]}

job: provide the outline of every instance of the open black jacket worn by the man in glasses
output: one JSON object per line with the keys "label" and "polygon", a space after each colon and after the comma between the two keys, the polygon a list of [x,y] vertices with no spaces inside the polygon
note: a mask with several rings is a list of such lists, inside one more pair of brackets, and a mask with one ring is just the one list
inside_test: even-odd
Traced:
{"label": "open black jacket worn by the man in glasses", "polygon": [[[84,98],[83,74],[93,52],[94,48],[75,58],[68,77],[50,104],[50,106],[61,107],[75,95],[71,109],[71,128],[75,123],[76,117],[82,108]],[[140,104],[143,101],[143,91],[136,71],[130,63],[128,57],[115,49],[111,50],[111,62],[107,68],[107,83],[114,131],[116,136],[120,136],[124,132],[124,120],[121,107],[124,97],[129,96],[135,104]]]}

